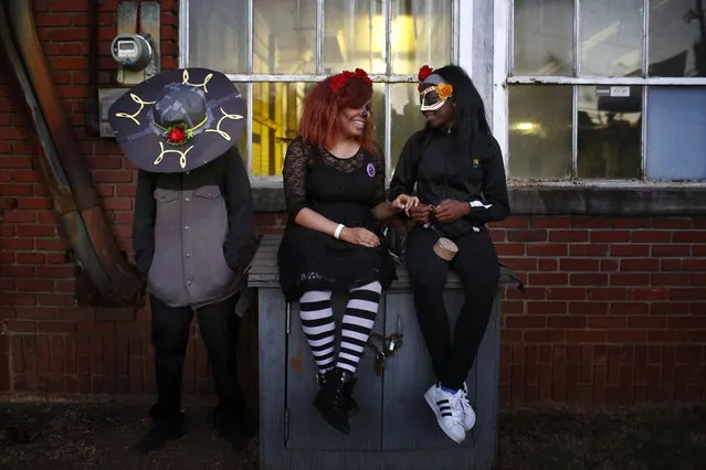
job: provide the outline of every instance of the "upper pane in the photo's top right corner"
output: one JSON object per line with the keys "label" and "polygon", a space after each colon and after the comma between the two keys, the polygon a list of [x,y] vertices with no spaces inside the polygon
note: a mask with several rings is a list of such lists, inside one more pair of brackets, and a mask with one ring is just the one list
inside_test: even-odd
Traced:
{"label": "upper pane in the photo's top right corner", "polygon": [[704,9],[700,0],[650,0],[650,75],[706,76]]}

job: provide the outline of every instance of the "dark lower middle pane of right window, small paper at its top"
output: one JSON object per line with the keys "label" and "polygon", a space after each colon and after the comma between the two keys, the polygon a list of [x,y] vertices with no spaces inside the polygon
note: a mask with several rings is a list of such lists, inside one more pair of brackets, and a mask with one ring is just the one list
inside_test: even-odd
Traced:
{"label": "dark lower middle pane of right window, small paper at its top", "polygon": [[639,179],[641,86],[580,86],[579,178]]}

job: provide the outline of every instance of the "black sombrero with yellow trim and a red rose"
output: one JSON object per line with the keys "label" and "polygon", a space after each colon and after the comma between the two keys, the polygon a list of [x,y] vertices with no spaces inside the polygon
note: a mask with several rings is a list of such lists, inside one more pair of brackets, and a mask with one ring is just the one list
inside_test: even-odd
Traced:
{"label": "black sombrero with yellow trim and a red rose", "polygon": [[207,68],[156,75],[120,96],[108,118],[125,156],[138,168],[181,173],[234,146],[246,105],[231,81]]}

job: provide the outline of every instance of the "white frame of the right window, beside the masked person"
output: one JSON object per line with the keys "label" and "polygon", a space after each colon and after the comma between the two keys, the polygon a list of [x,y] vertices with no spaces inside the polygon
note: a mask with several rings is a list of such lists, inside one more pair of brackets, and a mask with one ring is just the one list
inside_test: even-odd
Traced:
{"label": "white frame of the right window, beside the masked person", "polygon": [[[477,1],[477,0],[474,0]],[[577,184],[587,186],[683,186],[697,185],[706,186],[706,180],[676,181],[651,179],[646,175],[647,161],[647,99],[649,87],[651,86],[706,86],[706,77],[647,77],[650,57],[650,0],[642,0],[644,11],[642,18],[642,73],[640,77],[604,77],[581,75],[580,54],[578,53],[581,41],[581,10],[580,3],[586,0],[573,0],[573,74],[576,76],[546,76],[546,75],[514,75],[514,35],[515,35],[515,1],[516,0],[494,0],[494,51],[493,51],[493,129],[496,139],[503,151],[505,169],[509,167],[509,86],[512,85],[571,85],[572,86],[572,149],[571,149],[571,177],[567,180],[539,180],[536,184],[546,186],[576,186]],[[642,86],[642,129],[640,141],[641,179],[619,180],[619,179],[581,179],[578,177],[578,85],[613,85]],[[513,178],[508,171],[508,180],[519,184],[528,181],[520,178]]]}

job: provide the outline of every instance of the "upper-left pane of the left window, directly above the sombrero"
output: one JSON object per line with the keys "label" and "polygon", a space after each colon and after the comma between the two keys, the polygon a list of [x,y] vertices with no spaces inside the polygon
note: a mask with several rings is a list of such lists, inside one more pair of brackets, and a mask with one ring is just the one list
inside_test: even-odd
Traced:
{"label": "upper-left pane of the left window, directly above the sombrero", "polygon": [[189,2],[189,66],[247,73],[247,2]]}

